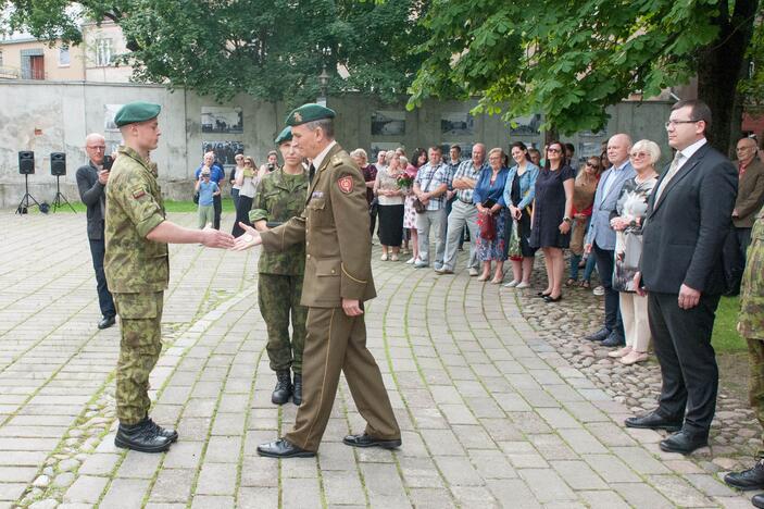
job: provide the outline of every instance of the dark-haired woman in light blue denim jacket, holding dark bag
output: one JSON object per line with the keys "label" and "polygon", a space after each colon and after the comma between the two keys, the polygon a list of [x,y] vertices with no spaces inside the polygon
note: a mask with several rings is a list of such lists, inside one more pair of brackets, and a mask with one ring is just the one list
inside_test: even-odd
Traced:
{"label": "dark-haired woman in light blue denim jacket, holding dark bag", "polygon": [[[527,288],[534,270],[536,249],[528,244],[530,237],[530,203],[536,196],[536,178],[539,167],[528,154],[528,148],[522,141],[512,144],[512,159],[515,165],[510,169],[504,186],[504,202],[510,209],[508,227],[511,229],[510,260],[512,260],[513,280],[506,288]],[[513,245],[514,244],[514,245]]]}

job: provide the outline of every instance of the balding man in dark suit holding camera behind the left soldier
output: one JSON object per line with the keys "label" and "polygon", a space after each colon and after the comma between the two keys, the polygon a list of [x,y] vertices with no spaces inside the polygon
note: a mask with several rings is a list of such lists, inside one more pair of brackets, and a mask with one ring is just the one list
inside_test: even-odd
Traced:
{"label": "balding man in dark suit holding camera behind the left soldier", "polygon": [[107,141],[100,134],[90,134],[85,138],[85,151],[88,163],[77,170],[77,188],[79,199],[88,208],[88,240],[90,240],[90,257],[92,268],[96,270],[96,284],[98,289],[98,303],[101,307],[101,320],[98,328],[108,328],[114,325],[116,310],[114,300],[107,287],[107,276],[103,273],[103,254],[107,251],[103,227],[107,194],[104,191],[109,182],[109,169],[103,167],[103,157]]}

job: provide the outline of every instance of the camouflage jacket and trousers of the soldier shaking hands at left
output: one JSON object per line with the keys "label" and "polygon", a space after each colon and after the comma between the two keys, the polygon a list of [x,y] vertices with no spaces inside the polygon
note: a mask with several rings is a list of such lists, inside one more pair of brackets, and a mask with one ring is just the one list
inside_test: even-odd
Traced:
{"label": "camouflage jacket and trousers of the soldier shaking hands at left", "polygon": [[146,236],[165,219],[156,169],[120,147],[107,184],[104,271],[120,315],[116,415],[122,424],[149,412],[149,374],[162,350],[160,323],[170,277],[167,245]]}

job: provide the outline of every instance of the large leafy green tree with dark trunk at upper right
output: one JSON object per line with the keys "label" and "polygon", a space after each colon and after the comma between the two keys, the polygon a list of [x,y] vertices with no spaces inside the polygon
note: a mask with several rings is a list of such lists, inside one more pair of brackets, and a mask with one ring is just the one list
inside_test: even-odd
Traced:
{"label": "large leafy green tree with dark trunk at upper right", "polygon": [[727,151],[759,0],[434,0],[410,107],[479,97],[510,120],[542,112],[564,134],[605,126],[605,108],[698,77]]}

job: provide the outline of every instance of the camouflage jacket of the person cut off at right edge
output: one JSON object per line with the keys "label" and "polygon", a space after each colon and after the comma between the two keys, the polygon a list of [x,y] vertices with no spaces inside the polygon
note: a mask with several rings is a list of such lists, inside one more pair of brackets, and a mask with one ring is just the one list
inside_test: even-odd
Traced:
{"label": "camouflage jacket of the person cut off at right edge", "polygon": [[740,293],[738,331],[743,337],[764,340],[764,209],[751,231]]}

